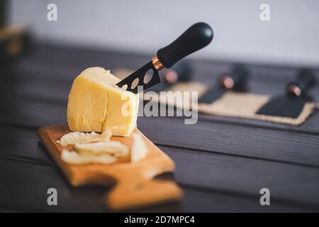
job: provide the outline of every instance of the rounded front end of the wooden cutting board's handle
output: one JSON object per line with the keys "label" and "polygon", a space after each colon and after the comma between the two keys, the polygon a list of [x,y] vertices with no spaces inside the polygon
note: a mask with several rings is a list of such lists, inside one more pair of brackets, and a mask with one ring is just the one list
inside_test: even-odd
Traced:
{"label": "rounded front end of the wooden cutting board's handle", "polygon": [[181,194],[172,181],[126,178],[116,184],[106,199],[111,209],[120,210],[181,199]]}

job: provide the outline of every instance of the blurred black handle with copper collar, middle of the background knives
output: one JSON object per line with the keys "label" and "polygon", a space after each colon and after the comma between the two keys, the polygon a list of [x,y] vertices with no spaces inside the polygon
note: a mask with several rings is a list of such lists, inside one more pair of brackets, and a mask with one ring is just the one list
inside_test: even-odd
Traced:
{"label": "blurred black handle with copper collar, middle of the background knives", "polygon": [[235,65],[229,73],[220,74],[218,84],[223,89],[234,91],[245,91],[249,72],[242,65]]}

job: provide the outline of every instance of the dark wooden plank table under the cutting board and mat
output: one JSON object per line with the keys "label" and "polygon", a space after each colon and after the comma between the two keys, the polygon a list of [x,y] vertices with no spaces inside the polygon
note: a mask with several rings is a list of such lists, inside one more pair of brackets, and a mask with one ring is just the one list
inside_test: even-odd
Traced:
{"label": "dark wooden plank table under the cutting board and mat", "polygon": [[[14,65],[1,65],[0,211],[108,211],[103,187],[72,188],[40,143],[40,126],[66,124],[69,89],[91,66],[134,69],[149,57],[111,50],[38,44]],[[229,62],[195,61],[194,80],[212,81]],[[250,90],[276,94],[293,67],[250,65]],[[319,87],[313,92],[319,101]],[[134,211],[319,211],[319,114],[302,126],[199,114],[140,117],[138,128],[177,164],[179,203]],[[47,189],[58,205],[47,205]],[[271,205],[259,204],[270,189]]]}

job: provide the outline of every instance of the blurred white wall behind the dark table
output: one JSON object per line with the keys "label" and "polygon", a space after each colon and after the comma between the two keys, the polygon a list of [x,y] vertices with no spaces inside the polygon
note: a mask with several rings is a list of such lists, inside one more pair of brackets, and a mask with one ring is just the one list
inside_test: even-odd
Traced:
{"label": "blurred white wall behind the dark table", "polygon": [[[46,19],[55,3],[58,21]],[[270,5],[271,21],[259,19]],[[217,60],[319,65],[318,0],[13,0],[10,21],[28,22],[39,39],[155,53],[197,21],[213,43],[193,56]]]}

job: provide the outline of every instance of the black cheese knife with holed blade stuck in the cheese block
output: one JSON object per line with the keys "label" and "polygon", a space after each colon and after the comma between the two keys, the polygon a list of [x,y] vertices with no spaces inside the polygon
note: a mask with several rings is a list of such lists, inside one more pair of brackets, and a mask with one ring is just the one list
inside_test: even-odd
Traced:
{"label": "black cheese knife with holed blade stuck in the cheese block", "polygon": [[[142,86],[142,90],[149,89],[160,82],[159,70],[162,70],[164,67],[172,67],[183,57],[206,47],[206,45],[211,43],[211,40],[213,40],[213,30],[211,27],[207,23],[195,23],[173,43],[157,50],[157,55],[150,62],[121,80],[121,82],[118,82],[117,85],[135,94],[142,92],[138,91],[139,86]],[[153,74],[150,81],[147,82],[145,74],[148,70],[152,70]]]}

